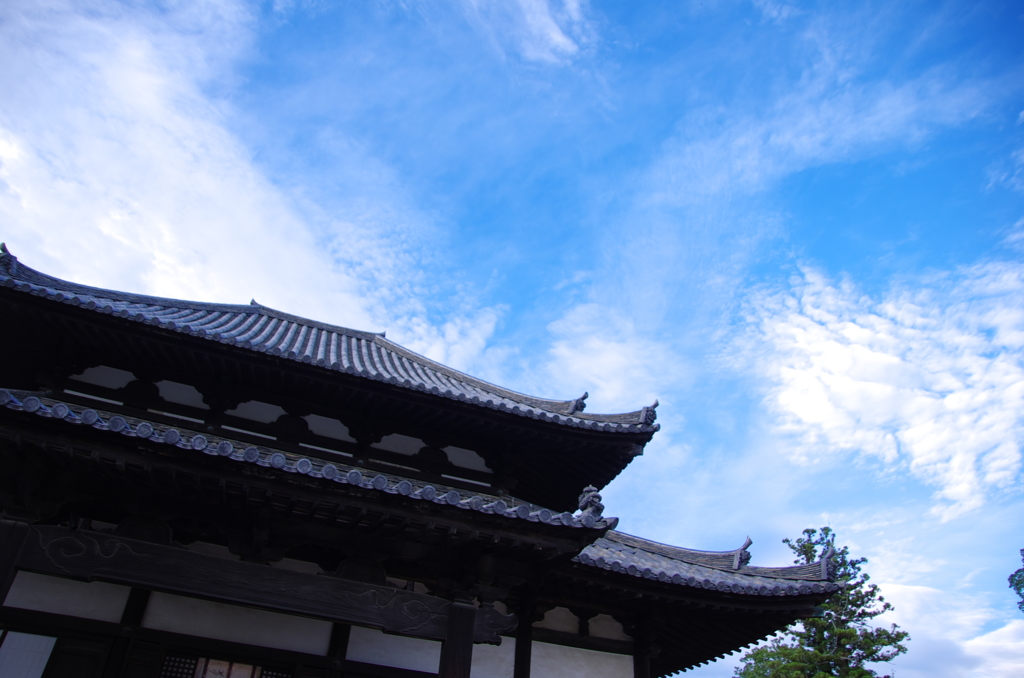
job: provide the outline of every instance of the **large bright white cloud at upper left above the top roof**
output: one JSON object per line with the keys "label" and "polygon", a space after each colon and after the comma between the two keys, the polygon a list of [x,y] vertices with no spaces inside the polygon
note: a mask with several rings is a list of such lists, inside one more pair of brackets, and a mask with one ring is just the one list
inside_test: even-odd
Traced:
{"label": "large bright white cloud at upper left above the top roof", "polygon": [[[3,238],[26,264],[77,282],[255,297],[472,363],[497,311],[427,321],[431,225],[393,172],[339,141],[367,184],[357,204],[300,209],[232,133],[230,107],[211,92],[233,86],[256,28],[232,0],[0,6]],[[290,180],[301,189],[308,177]]]}

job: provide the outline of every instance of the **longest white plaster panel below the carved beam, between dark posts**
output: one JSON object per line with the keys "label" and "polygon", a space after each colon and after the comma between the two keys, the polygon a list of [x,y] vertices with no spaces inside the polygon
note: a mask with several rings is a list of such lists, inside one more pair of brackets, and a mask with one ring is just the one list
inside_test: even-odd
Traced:
{"label": "longest white plaster panel below the carved beam, between dark posts", "polygon": [[154,592],[142,627],[202,638],[327,655],[331,623]]}

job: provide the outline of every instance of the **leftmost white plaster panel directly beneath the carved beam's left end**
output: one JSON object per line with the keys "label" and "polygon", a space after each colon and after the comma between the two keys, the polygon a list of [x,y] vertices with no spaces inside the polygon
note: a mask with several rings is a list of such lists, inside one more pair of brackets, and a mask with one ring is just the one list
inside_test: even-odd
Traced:
{"label": "leftmost white plaster panel directly beneath the carved beam's left end", "polygon": [[121,621],[130,591],[129,587],[116,584],[76,582],[19,571],[3,604],[116,624]]}

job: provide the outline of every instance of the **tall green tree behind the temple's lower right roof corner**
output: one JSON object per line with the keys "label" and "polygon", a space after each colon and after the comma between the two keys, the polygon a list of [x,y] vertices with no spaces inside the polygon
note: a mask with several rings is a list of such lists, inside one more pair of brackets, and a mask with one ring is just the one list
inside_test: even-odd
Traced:
{"label": "tall green tree behind the temple's lower right roof corner", "polygon": [[815,562],[831,551],[833,571],[846,586],[821,606],[820,618],[802,620],[784,635],[743,655],[735,676],[877,678],[878,674],[867,666],[891,662],[905,652],[903,643],[909,636],[895,624],[889,628],[870,625],[871,620],[893,607],[861,570],[867,559],[851,558],[845,546],[835,548],[836,535],[830,527],[805,529],[803,537],[782,542],[797,554],[795,562],[801,565]]}

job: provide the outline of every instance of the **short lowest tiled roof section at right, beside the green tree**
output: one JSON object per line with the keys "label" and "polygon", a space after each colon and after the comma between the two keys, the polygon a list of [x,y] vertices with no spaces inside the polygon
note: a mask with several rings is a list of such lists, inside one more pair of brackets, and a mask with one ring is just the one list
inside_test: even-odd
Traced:
{"label": "short lowest tiled roof section at right, beside the green tree", "polygon": [[[658,544],[620,532],[608,532],[585,548],[575,561],[666,584],[761,596],[831,593],[842,588],[829,581],[828,557],[793,567],[748,567],[740,549],[694,551]],[[737,557],[740,556],[740,557]]]}

